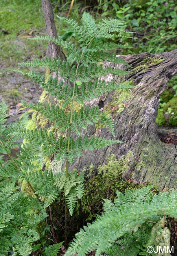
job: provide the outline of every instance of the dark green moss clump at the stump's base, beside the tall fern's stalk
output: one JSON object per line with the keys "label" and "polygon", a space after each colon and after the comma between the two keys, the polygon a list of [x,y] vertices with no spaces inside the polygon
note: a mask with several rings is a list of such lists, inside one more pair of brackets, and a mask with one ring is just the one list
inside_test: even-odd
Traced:
{"label": "dark green moss clump at the stump's base, beside the tall fern's stalk", "polygon": [[98,174],[95,174],[94,166],[89,168],[89,174],[84,184],[84,195],[77,202],[76,215],[80,212],[86,215],[86,221],[91,221],[96,215],[100,214],[103,208],[104,198],[114,200],[116,190],[124,192],[125,189],[141,187],[130,180],[122,180],[129,169],[129,161],[132,152],[129,151],[125,156],[118,160],[112,154],[107,163],[98,167]]}

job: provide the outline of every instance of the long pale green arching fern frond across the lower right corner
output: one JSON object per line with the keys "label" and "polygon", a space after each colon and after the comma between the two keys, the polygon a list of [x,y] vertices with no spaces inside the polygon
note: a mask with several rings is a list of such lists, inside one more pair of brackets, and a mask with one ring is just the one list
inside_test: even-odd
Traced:
{"label": "long pale green arching fern frond across the lower right corner", "polygon": [[131,204],[127,202],[121,208],[117,208],[116,211],[103,213],[94,223],[77,233],[76,239],[66,252],[66,256],[76,252],[78,256],[85,255],[94,249],[96,249],[96,256],[98,256],[111,247],[111,243],[128,233],[133,226],[142,225],[147,219],[155,215],[163,216],[165,214],[176,218],[176,207],[176,190],[171,193],[161,192],[159,195],[154,195],[148,202],[146,200],[131,202]]}

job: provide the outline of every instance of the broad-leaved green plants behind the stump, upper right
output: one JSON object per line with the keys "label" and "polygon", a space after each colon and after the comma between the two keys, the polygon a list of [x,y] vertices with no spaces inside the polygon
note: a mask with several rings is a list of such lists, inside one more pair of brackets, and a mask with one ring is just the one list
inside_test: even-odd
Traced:
{"label": "broad-leaved green plants behind the stump, upper right", "polygon": [[126,20],[129,29],[137,33],[137,53],[175,49],[177,6],[174,0],[168,3],[165,0],[129,0],[126,4],[118,2],[112,7],[118,19]]}

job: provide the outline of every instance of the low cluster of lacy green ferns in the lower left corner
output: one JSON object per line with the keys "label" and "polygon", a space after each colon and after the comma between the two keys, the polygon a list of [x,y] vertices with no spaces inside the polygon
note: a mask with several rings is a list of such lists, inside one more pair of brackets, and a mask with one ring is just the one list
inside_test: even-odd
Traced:
{"label": "low cluster of lacy green ferns in the lower left corner", "polygon": [[[33,197],[25,196],[18,184],[18,180],[26,178],[27,175],[22,166],[25,165],[26,157],[30,158],[28,151],[25,157],[21,155],[19,158],[13,158],[10,154],[12,148],[20,146],[17,141],[24,136],[28,114],[26,113],[21,121],[6,127],[4,124],[7,117],[6,111],[6,105],[2,102],[0,104],[0,153],[7,154],[10,160],[0,162],[0,254],[2,256],[9,253],[28,256],[32,250],[40,247],[40,243],[38,246],[36,244],[40,239],[38,226],[40,223],[45,223],[48,214],[37,193]],[[35,192],[33,188],[35,184],[28,183],[28,185],[31,191]],[[46,225],[44,227],[50,230]],[[41,230],[41,234],[42,232],[45,233],[45,230]],[[51,255],[47,253],[50,250],[47,249],[48,244],[46,241],[46,256]],[[55,251],[59,250],[60,246],[61,244],[55,244]],[[53,256],[57,255],[57,252]]]}

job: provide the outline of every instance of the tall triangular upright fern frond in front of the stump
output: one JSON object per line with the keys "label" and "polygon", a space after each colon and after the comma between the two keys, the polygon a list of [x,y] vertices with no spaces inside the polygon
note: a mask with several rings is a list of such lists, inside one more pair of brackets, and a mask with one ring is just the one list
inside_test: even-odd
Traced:
{"label": "tall triangular upright fern frond in front of the stump", "polygon": [[[61,61],[60,58],[43,58],[19,64],[22,66],[49,68],[53,72],[59,72],[60,76],[68,82],[60,81],[58,83],[57,78],[52,78],[52,76],[46,82],[45,76],[42,76],[40,73],[34,71],[24,73],[21,70],[18,70],[18,72],[37,81],[46,91],[59,100],[58,105],[52,106],[46,103],[28,105],[23,102],[26,107],[35,109],[50,122],[55,123],[58,133],[61,133],[56,138],[52,131],[48,132],[44,129],[28,131],[28,141],[30,141],[31,148],[33,148],[31,155],[36,156],[34,148],[38,145],[36,147],[38,156],[47,157],[55,155],[55,160],[63,161],[65,159],[65,178],[70,178],[70,182],[72,182],[71,180],[74,176],[68,172],[68,163],[73,163],[78,156],[82,155],[83,150],[94,150],[95,148],[107,147],[113,143],[121,142],[113,139],[106,140],[94,135],[91,137],[88,137],[88,135],[81,137],[81,130],[87,129],[88,125],[94,125],[99,122],[104,127],[110,128],[112,135],[114,135],[114,122],[111,115],[106,115],[103,112],[100,113],[98,106],[85,106],[85,101],[97,98],[103,93],[119,87],[114,82],[109,83],[100,80],[100,76],[105,76],[109,73],[116,75],[128,73],[127,71],[111,69],[110,67],[103,69],[104,60],[128,65],[121,58],[107,52],[107,50],[114,50],[118,47],[126,48],[126,46],[112,42],[112,39],[115,37],[125,36],[125,22],[117,19],[108,19],[96,24],[89,13],[83,14],[82,26],[79,26],[74,20],[64,17],[58,18],[75,32],[77,46],[71,42],[68,43],[62,39],[48,36],[34,39],[52,41],[62,46],[67,50],[68,60]],[[123,85],[121,86],[123,87]],[[76,109],[75,106],[78,106],[78,108]],[[73,136],[73,134],[77,136]],[[33,147],[33,144],[35,144],[35,147]],[[83,180],[82,176],[80,178]],[[73,213],[74,204],[78,197],[77,188],[80,190],[80,197],[82,195],[81,189],[83,187],[77,183],[77,179],[75,178],[73,181],[75,184],[75,186],[72,186],[73,189],[69,193],[65,193],[70,214]]]}

